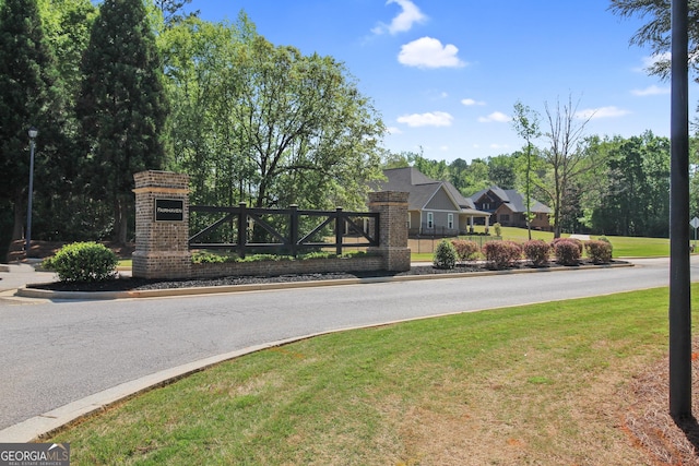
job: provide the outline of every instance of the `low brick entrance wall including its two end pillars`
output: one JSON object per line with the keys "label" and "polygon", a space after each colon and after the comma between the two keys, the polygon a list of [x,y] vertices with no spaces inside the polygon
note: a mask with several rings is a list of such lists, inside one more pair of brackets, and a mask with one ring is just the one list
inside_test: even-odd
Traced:
{"label": "low brick entrance wall including its two end pillars", "polygon": [[[135,181],[135,251],[133,276],[143,278],[212,278],[220,276],[283,275],[323,272],[402,272],[411,267],[407,248],[407,193],[370,193],[369,210],[379,213],[379,246],[368,258],[303,261],[192,264],[189,251],[189,177],[168,171],[141,171]],[[180,202],[182,216],[155,220],[155,200]],[[178,207],[179,208],[179,207]]]}

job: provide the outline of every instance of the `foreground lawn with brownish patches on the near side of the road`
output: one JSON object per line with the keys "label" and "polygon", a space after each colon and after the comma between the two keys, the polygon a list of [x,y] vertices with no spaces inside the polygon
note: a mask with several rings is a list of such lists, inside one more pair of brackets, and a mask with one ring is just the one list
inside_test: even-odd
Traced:
{"label": "foreground lawn with brownish patches on the near side of the road", "polygon": [[320,336],[44,441],[70,442],[73,465],[652,464],[623,419],[629,382],[666,354],[667,299],[652,289]]}

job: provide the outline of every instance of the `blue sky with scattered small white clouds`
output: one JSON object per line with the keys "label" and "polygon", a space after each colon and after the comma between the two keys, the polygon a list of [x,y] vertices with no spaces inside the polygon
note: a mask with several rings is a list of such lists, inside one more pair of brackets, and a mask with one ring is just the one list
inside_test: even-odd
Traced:
{"label": "blue sky with scattered small white clouds", "polygon": [[[572,100],[584,133],[670,136],[670,82],[629,39],[648,20],[608,0],[193,0],[206,21],[244,10],[274,45],[342,61],[388,128],[383,146],[451,162],[524,146],[519,100],[545,117]],[[697,85],[690,84],[690,115]],[[543,122],[542,130],[546,130]],[[544,140],[535,142],[545,146]]]}

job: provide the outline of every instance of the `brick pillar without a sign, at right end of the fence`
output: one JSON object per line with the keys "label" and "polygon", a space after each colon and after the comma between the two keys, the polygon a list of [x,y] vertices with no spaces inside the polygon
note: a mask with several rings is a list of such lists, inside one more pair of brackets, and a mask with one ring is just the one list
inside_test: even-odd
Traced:
{"label": "brick pillar without a sign, at right end of the fence", "polygon": [[387,271],[408,271],[411,250],[407,247],[407,193],[370,192],[369,211],[379,213],[379,247],[370,250],[383,256]]}

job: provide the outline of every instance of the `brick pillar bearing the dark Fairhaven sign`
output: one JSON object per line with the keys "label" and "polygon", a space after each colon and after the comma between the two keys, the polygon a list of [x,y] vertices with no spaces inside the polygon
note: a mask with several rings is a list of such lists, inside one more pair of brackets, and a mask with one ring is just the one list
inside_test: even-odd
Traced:
{"label": "brick pillar bearing the dark Fairhaven sign", "polygon": [[188,278],[189,176],[141,171],[135,180],[135,251],[133,276]]}

